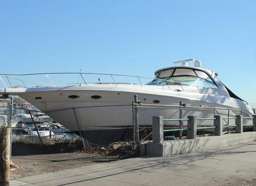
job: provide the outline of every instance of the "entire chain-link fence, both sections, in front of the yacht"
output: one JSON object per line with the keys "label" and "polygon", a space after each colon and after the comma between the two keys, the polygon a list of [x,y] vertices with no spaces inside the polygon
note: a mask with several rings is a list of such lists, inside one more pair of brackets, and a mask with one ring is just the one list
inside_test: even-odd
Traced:
{"label": "entire chain-link fence, both sections, in front of the yacht", "polygon": [[[9,109],[8,106],[5,108]],[[13,120],[18,122],[12,126],[12,141],[58,145],[60,150],[65,147],[91,147],[132,152],[138,149],[141,142],[152,140],[153,116],[183,119],[188,116],[213,118],[215,114],[218,113],[213,108],[143,104],[64,108],[45,113],[14,108]],[[214,120],[198,120],[197,125],[210,127],[213,122]],[[164,130],[186,128],[187,121],[164,122]],[[212,132],[213,129],[201,129],[198,130],[198,135],[210,135]],[[186,135],[186,130],[164,132],[166,140],[182,139]]]}

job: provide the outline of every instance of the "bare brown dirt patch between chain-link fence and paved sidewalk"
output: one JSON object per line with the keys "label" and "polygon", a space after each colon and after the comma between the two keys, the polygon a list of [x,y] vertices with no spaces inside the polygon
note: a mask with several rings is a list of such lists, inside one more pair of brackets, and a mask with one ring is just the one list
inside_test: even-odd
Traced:
{"label": "bare brown dirt patch between chain-link fence and paved sidewalk", "polygon": [[[127,157],[125,157],[127,158]],[[73,169],[95,163],[117,161],[119,156],[95,155],[84,152],[58,152],[12,147],[12,162],[21,169],[10,168],[10,179]],[[36,164],[34,164],[36,163]]]}

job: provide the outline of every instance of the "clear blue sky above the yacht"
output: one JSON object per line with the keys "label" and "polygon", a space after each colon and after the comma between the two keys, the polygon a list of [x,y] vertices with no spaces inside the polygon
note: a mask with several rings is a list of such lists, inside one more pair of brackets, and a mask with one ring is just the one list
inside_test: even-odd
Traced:
{"label": "clear blue sky above the yacht", "polygon": [[195,58],[255,103],[255,7],[254,0],[1,1],[0,73],[154,77]]}

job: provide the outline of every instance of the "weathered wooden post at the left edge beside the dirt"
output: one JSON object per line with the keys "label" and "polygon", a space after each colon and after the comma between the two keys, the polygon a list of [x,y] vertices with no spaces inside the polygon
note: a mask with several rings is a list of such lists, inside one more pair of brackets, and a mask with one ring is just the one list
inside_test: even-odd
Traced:
{"label": "weathered wooden post at the left edge beside the dirt", "polygon": [[0,127],[0,186],[9,186],[11,126]]}

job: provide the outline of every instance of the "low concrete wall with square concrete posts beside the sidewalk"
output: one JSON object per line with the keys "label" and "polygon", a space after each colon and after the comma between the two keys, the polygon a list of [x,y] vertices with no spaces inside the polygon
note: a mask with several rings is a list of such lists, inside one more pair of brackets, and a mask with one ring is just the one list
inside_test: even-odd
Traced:
{"label": "low concrete wall with square concrete posts beside the sidewalk", "polygon": [[[188,130],[188,139],[163,141],[163,117],[154,116],[153,142],[140,144],[140,156],[166,157],[256,141],[256,125],[253,124],[253,132],[243,132],[242,116],[236,116],[237,126],[234,134],[222,134],[222,117],[215,117],[215,127],[218,127],[215,128],[214,136],[197,137],[196,118],[192,118],[191,122],[188,122],[188,128],[191,127],[191,130]],[[254,121],[255,119],[253,123]]]}

